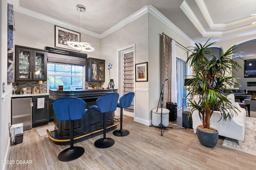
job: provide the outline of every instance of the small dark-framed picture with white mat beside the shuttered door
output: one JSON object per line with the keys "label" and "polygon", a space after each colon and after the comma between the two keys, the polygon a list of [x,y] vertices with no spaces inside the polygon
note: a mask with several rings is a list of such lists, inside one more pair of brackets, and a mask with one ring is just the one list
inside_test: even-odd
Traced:
{"label": "small dark-framed picture with white mat beside the shuttered door", "polygon": [[148,62],[135,64],[136,82],[148,81]]}

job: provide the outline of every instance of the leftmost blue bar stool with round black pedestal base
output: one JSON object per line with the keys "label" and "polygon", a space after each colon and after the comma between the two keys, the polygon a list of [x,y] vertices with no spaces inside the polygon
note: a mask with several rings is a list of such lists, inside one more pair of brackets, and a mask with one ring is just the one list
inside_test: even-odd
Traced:
{"label": "leftmost blue bar stool with round black pedestal base", "polygon": [[62,150],[58,159],[63,162],[75,160],[84,154],[84,148],[74,147],[74,120],[82,119],[86,113],[86,102],[80,98],[60,98],[53,103],[59,121],[70,121],[70,147]]}

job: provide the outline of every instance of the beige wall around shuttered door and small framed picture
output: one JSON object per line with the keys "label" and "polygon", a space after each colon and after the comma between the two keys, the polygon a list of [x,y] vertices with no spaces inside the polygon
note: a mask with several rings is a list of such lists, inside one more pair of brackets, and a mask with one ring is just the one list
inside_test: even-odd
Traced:
{"label": "beige wall around shuttered door and small framed picture", "polygon": [[[135,64],[148,62],[148,14],[128,23],[124,27],[104,37],[101,43],[102,58],[106,64],[113,64],[111,69],[111,78],[114,78],[115,85],[121,89],[122,84],[118,84],[118,77],[122,71],[118,68],[121,59],[118,58],[118,51],[127,46],[135,44]],[[149,69],[150,68],[149,66]],[[106,72],[108,73],[108,71]],[[106,74],[106,79],[108,74]],[[152,81],[152,80],[151,80]],[[106,86],[108,82],[104,83]],[[135,111],[134,120],[146,125],[150,125],[148,86],[149,82],[135,83]],[[119,91],[120,95],[121,92]]]}

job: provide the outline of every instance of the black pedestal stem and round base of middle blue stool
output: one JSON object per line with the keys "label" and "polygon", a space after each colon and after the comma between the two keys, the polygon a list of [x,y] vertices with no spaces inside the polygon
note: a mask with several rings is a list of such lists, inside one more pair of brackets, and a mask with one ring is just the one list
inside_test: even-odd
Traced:
{"label": "black pedestal stem and round base of middle blue stool", "polygon": [[98,139],[94,142],[94,146],[97,148],[109,148],[115,143],[114,139],[106,138],[106,124],[107,124],[107,113],[103,113],[103,138]]}

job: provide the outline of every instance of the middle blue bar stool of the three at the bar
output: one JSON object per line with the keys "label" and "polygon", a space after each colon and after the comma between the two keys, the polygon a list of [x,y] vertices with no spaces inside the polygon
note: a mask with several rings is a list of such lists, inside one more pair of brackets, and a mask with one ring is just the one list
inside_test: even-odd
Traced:
{"label": "middle blue bar stool of the three at the bar", "polygon": [[115,111],[117,107],[119,94],[118,93],[107,93],[96,100],[97,106],[92,106],[92,109],[99,111],[103,114],[103,138],[98,139],[94,142],[94,146],[97,148],[109,148],[114,145],[115,141],[111,138],[106,138],[106,123],[107,123],[107,113],[110,111]]}

